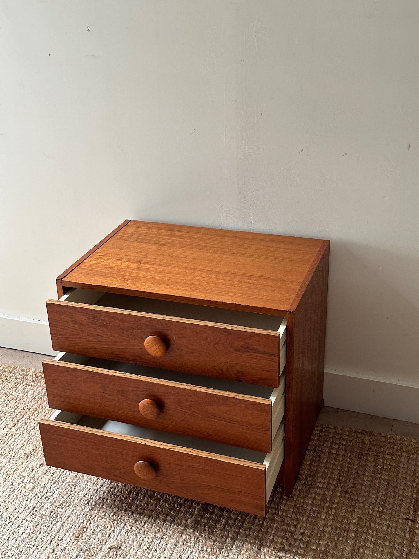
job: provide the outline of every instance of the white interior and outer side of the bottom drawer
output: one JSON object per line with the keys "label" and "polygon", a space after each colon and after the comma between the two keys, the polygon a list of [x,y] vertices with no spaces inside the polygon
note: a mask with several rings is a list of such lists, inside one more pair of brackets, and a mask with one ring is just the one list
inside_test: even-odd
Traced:
{"label": "white interior and outer side of the bottom drawer", "polygon": [[272,452],[266,454],[264,452],[252,451],[246,448],[232,447],[228,444],[216,443],[212,440],[186,437],[185,435],[177,435],[175,433],[166,433],[164,431],[158,431],[146,427],[137,427],[136,425],[119,423],[118,421],[109,421],[105,419],[92,418],[88,415],[73,414],[68,411],[57,410],[50,419],[63,421],[64,423],[69,424],[83,425],[84,427],[91,427],[111,433],[130,435],[131,437],[174,444],[178,447],[193,448],[211,454],[240,458],[249,462],[265,464],[266,499],[269,499],[275,480],[278,476],[279,468],[284,459],[284,421],[280,424],[278,432],[273,440]]}

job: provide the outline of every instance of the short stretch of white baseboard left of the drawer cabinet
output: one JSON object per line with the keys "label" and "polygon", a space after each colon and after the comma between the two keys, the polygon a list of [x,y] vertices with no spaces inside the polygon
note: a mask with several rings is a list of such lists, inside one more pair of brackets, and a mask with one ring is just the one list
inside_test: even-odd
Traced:
{"label": "short stretch of white baseboard left of the drawer cabinet", "polygon": [[56,355],[46,320],[0,314],[0,347]]}

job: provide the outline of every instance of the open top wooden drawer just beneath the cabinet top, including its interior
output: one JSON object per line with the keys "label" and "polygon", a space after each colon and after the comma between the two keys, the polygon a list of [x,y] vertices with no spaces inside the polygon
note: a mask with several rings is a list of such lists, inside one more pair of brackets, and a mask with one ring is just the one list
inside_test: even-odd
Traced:
{"label": "open top wooden drawer just beneath the cabinet top, including its interior", "polygon": [[83,289],[46,306],[56,351],[272,387],[285,365],[280,316]]}

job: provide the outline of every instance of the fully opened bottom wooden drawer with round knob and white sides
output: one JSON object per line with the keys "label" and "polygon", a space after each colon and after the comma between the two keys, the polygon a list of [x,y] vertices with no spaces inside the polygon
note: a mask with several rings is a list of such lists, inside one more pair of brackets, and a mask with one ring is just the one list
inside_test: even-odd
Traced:
{"label": "fully opened bottom wooden drawer with round knob and white sides", "polygon": [[283,424],[270,454],[65,411],[39,427],[48,466],[260,515],[284,453]]}

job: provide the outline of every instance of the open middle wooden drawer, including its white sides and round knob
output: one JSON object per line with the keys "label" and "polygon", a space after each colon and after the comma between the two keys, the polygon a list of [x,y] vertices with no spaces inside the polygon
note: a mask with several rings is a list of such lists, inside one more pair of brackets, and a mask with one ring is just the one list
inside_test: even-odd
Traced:
{"label": "open middle wooden drawer, including its white sides and round knob", "polygon": [[50,408],[256,451],[272,450],[285,413],[285,373],[272,389],[68,353],[42,366]]}

